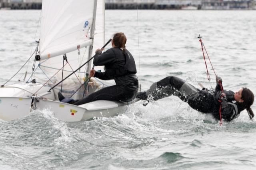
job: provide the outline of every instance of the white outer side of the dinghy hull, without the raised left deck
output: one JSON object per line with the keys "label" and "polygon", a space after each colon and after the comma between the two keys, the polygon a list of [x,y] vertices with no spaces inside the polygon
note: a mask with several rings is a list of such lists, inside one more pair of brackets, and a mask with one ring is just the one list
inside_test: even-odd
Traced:
{"label": "white outer side of the dinghy hull, without the raised left deck", "polygon": [[87,121],[97,117],[113,117],[124,113],[127,103],[98,100],[76,106],[49,99],[39,99],[36,108],[31,109],[31,98],[0,97],[0,119],[13,121],[34,110],[49,109],[54,117],[65,122]]}

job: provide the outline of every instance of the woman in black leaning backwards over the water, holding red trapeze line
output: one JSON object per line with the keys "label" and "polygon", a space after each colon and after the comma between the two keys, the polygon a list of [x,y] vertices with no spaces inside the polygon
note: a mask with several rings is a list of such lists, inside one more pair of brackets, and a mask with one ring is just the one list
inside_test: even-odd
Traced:
{"label": "woman in black leaning backwards over the water, holding red trapeze line", "polygon": [[[254,102],[254,94],[247,88],[242,88],[234,93],[229,90],[221,90],[222,79],[216,76],[215,90],[203,88],[197,89],[184,80],[169,76],[156,83],[153,83],[146,92],[140,92],[137,98],[149,101],[162,99],[170,95],[179,97],[182,101],[187,102],[190,107],[202,113],[211,113],[216,119],[225,119],[231,121],[238,117],[240,112],[247,110],[250,119],[254,113],[250,106]],[[147,104],[147,103],[146,103]]]}

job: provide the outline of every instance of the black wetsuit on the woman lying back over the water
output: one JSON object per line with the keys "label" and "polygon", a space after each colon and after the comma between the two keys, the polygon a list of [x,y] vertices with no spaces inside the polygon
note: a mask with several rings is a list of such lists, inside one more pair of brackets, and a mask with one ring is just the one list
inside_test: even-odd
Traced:
{"label": "black wetsuit on the woman lying back over the water", "polygon": [[240,103],[234,102],[233,91],[224,90],[226,98],[218,101],[216,95],[219,94],[219,91],[219,85],[216,85],[215,91],[199,90],[178,77],[170,76],[153,83],[148,91],[138,93],[137,97],[143,100],[147,100],[149,97],[158,100],[175,95],[187,102],[193,109],[202,113],[211,113],[216,119],[220,119],[219,109],[221,106],[222,119],[231,121],[238,117],[244,109]]}

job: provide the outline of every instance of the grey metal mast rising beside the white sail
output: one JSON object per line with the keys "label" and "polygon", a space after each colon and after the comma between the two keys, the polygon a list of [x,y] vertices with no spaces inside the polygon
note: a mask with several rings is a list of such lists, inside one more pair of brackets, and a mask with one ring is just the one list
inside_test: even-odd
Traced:
{"label": "grey metal mast rising beside the white sail", "polygon": [[[92,28],[90,32],[90,38],[92,40],[92,44],[90,45],[90,50],[88,51],[88,60],[92,57],[92,48],[93,48],[93,41],[94,41],[94,31],[95,31],[95,23],[96,23],[96,10],[97,10],[97,0],[94,1],[94,10],[93,10],[93,19],[92,19]],[[88,62],[86,68],[86,79],[89,76],[89,71],[92,67],[92,61]]]}

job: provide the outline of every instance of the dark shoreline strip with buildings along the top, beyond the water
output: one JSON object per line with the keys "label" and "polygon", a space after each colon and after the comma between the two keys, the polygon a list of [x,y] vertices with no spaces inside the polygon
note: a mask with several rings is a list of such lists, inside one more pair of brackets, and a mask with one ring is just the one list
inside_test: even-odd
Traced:
{"label": "dark shoreline strip with buildings along the top, beyond the water", "polygon": [[[105,0],[106,9],[256,10],[256,0]],[[0,0],[4,9],[41,9],[42,0]]]}

